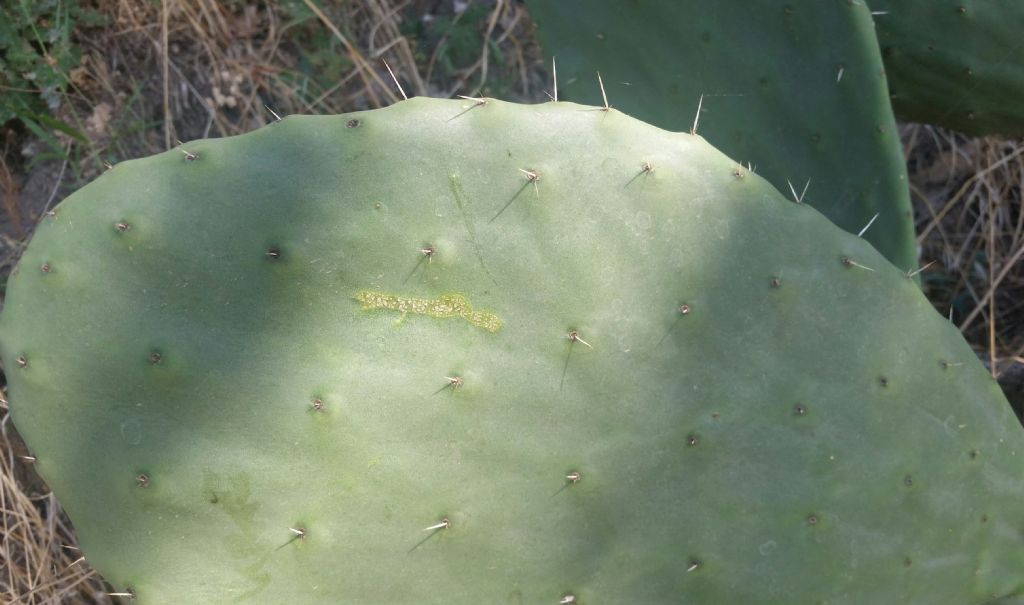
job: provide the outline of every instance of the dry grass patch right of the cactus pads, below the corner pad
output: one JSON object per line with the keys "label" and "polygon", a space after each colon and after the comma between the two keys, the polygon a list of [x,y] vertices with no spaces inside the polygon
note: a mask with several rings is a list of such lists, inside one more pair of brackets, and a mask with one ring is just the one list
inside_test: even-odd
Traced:
{"label": "dry grass patch right of the cactus pads, below the corner pad", "polygon": [[1024,141],[904,128],[925,292],[1022,416]]}

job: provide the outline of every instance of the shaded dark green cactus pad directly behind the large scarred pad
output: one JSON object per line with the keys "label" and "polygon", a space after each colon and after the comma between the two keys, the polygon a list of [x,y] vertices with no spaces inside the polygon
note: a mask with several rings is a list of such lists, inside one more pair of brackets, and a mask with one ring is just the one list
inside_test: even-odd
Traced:
{"label": "shaded dark green cactus pad directly behind the large scarred pad", "polygon": [[[916,263],[906,167],[871,16],[849,0],[529,0],[558,94],[698,132],[784,196]],[[702,95],[702,102],[701,102]]]}

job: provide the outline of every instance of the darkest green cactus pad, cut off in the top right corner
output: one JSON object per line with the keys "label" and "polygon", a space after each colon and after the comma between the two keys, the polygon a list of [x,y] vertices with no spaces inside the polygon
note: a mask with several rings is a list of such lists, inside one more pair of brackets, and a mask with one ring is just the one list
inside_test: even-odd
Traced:
{"label": "darkest green cactus pad, cut off in the top right corner", "polygon": [[968,134],[1024,134],[1024,3],[870,0],[902,120]]}

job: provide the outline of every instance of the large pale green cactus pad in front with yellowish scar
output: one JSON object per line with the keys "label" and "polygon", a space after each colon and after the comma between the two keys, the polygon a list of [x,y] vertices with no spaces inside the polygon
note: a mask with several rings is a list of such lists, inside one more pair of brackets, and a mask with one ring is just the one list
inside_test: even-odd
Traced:
{"label": "large pale green cactus pad in front with yellowish scar", "polygon": [[139,605],[981,604],[1024,439],[866,242],[572,103],[115,166],[9,286],[11,413]]}

